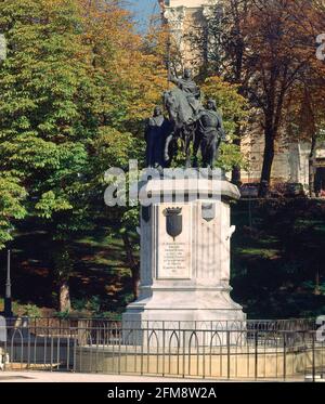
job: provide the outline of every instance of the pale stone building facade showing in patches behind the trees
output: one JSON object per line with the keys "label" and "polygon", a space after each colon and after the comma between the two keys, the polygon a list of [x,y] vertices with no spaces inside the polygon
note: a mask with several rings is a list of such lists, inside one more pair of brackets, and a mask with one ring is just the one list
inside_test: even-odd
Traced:
{"label": "pale stone building facade showing in patches behind the trees", "polygon": [[[159,0],[161,13],[180,50],[183,65],[194,69],[196,64],[205,57],[205,45],[194,49],[191,35],[203,32],[207,29],[209,18],[216,12],[218,0]],[[208,41],[207,41],[208,43]],[[264,141],[261,129],[255,134],[247,134],[242,142],[243,154],[247,157],[248,169],[242,171],[243,182],[260,181]],[[285,133],[275,145],[275,157],[272,168],[272,182],[294,182],[303,184],[306,191],[310,183],[311,144],[308,142],[288,142]],[[317,147],[316,154],[316,187],[325,190],[325,144]]]}

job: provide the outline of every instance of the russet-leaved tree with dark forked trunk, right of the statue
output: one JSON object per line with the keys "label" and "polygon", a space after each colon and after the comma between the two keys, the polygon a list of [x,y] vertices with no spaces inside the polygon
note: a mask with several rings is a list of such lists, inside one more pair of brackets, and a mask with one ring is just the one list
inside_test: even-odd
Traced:
{"label": "russet-leaved tree with dark forked trunk, right of the statue", "polygon": [[[262,113],[265,146],[261,183],[270,183],[274,145],[287,112],[286,97],[315,58],[315,31],[310,21],[320,21],[320,16],[310,0],[224,3],[227,5],[219,26],[211,24],[217,39],[212,37],[210,47],[219,55],[219,60],[214,57],[214,66],[239,81],[242,94]],[[225,35],[221,34],[220,24],[226,27]]]}

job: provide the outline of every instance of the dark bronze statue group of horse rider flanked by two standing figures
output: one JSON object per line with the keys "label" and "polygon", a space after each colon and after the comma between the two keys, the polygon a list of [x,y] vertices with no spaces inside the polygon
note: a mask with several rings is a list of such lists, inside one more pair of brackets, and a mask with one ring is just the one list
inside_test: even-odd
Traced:
{"label": "dark bronze statue group of horse rider flanked by two standing figures", "polygon": [[208,100],[206,107],[203,106],[200,89],[190,69],[184,70],[182,78],[170,75],[169,81],[176,84],[164,93],[169,117],[166,118],[162,108],[157,106],[146,122],[146,167],[168,168],[181,151],[186,168],[198,167],[200,152],[202,167],[213,169],[221,142],[225,141],[216,101]]}

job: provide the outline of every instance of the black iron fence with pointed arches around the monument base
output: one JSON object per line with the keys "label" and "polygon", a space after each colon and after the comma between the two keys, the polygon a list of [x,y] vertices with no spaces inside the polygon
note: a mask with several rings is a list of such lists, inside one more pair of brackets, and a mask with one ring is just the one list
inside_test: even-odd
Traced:
{"label": "black iron fence with pointed arches around the monument base", "polygon": [[310,320],[121,324],[23,317],[3,328],[3,370],[311,381],[325,375],[325,341]]}

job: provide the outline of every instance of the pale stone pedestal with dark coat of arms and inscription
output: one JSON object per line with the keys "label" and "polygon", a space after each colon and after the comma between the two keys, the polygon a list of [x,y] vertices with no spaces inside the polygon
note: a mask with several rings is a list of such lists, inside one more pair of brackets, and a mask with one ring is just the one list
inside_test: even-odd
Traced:
{"label": "pale stone pedestal with dark coat of arms and inscription", "polygon": [[154,203],[141,213],[141,296],[122,315],[123,328],[244,322],[243,308],[230,297],[230,203],[239,198],[237,187],[208,179],[153,180],[141,187],[140,198],[145,195]]}

